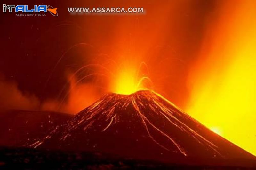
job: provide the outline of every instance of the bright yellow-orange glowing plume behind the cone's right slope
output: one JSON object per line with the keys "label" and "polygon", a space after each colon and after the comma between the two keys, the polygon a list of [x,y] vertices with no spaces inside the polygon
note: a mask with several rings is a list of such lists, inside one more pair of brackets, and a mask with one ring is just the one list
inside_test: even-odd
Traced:
{"label": "bright yellow-orange glowing plume behind the cone's right slope", "polygon": [[206,33],[185,110],[256,155],[256,1],[230,3]]}

